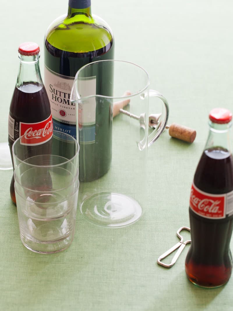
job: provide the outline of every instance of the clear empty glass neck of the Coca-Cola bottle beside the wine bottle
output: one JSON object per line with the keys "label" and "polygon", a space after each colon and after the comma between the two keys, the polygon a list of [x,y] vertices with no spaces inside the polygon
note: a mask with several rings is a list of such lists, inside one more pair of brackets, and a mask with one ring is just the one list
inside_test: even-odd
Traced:
{"label": "clear empty glass neck of the Coca-Cola bottle beside the wine bottle", "polygon": [[20,65],[16,81],[16,87],[20,88],[24,83],[34,82],[43,85],[39,67],[39,54],[26,56],[19,54]]}

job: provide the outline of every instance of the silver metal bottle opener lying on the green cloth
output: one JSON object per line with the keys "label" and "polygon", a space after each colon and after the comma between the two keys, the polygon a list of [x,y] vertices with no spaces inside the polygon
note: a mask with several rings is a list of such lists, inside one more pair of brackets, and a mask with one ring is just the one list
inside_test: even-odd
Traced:
{"label": "silver metal bottle opener lying on the green cloth", "polygon": [[[180,256],[182,250],[185,248],[186,244],[191,243],[191,240],[187,240],[184,242],[184,238],[182,237],[182,235],[180,234],[180,232],[182,230],[187,230],[190,231],[190,228],[188,227],[181,227],[178,231],[177,231],[177,236],[178,238],[180,238],[180,242],[178,242],[177,244],[175,244],[173,247],[169,248],[165,253],[163,253],[161,256],[159,256],[157,263],[160,266],[166,267],[166,268],[171,268],[177,261],[178,257]],[[173,253],[176,249],[178,248],[177,252],[175,253],[175,255],[172,258],[172,261],[169,264],[166,264],[164,262],[162,262],[161,260],[166,258],[168,255],[170,255],[171,253]]]}

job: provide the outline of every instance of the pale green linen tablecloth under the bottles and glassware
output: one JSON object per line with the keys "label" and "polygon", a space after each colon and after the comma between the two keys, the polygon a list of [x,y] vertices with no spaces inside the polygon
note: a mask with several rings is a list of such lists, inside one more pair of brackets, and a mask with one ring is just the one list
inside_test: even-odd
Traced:
{"label": "pale green linen tablecloth under the bottles and glassware", "polygon": [[[67,2],[4,3],[0,121],[9,112],[19,44],[35,41],[41,46],[43,73],[44,33],[67,11]],[[178,241],[178,228],[189,225],[190,186],[207,138],[209,110],[233,110],[232,11],[227,0],[92,1],[92,12],[114,32],[115,58],[144,67],[151,87],[170,104],[168,123],[195,128],[197,137],[189,145],[166,131],[150,147],[150,199],[137,223],[104,229],[78,212],[73,244],[52,255],[22,245],[9,196],[12,171],[0,171],[0,310],[232,310],[233,276],[212,290],[187,280],[189,246],[171,269],[156,263]]]}

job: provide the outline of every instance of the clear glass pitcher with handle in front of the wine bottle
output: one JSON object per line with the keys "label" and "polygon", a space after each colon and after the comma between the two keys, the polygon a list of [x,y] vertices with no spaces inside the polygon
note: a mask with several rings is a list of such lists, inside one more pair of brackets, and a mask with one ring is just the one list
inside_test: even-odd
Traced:
{"label": "clear glass pitcher with handle in front of the wine bottle", "polygon": [[[79,207],[96,225],[130,225],[147,206],[147,148],[168,119],[167,100],[149,85],[143,68],[116,60],[87,64],[75,76],[71,101],[77,104]],[[159,98],[162,108],[158,126],[148,135],[150,97]]]}

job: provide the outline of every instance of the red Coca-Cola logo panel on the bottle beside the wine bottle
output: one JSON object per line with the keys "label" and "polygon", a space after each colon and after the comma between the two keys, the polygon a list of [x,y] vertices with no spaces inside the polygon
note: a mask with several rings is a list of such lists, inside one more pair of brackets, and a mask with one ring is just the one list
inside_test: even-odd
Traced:
{"label": "red Coca-Cola logo panel on the bottle beside the wine bottle", "polygon": [[22,145],[44,144],[52,137],[53,123],[52,114],[44,121],[37,123],[20,122],[20,143]]}

